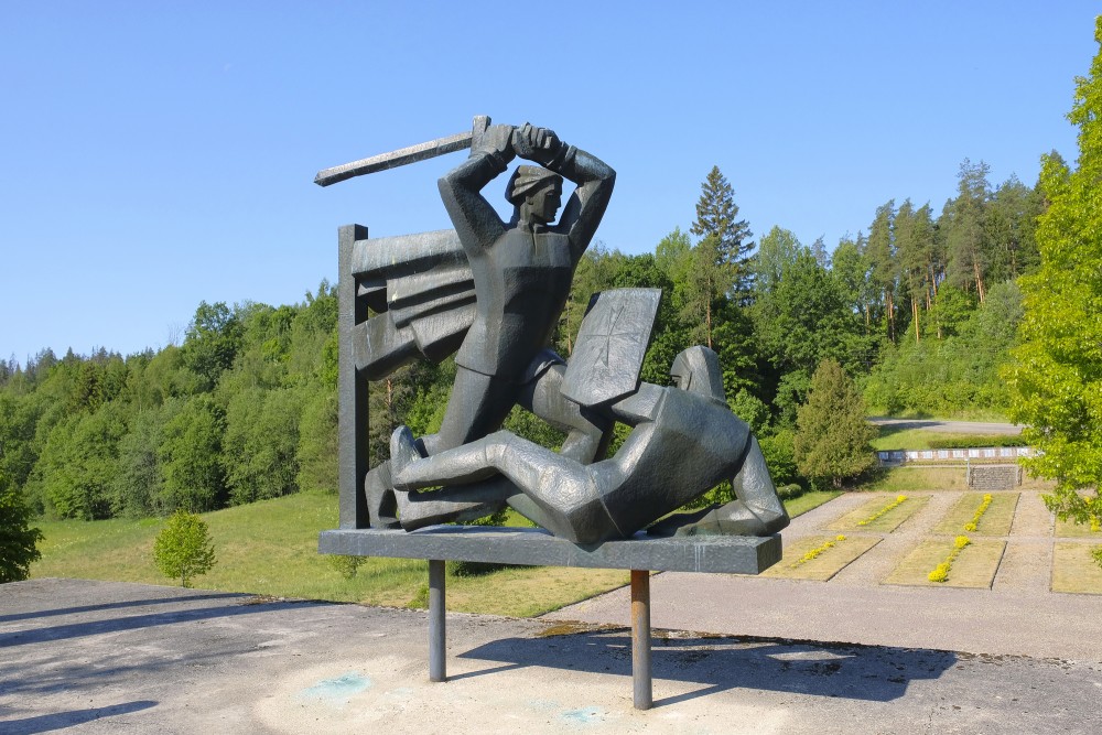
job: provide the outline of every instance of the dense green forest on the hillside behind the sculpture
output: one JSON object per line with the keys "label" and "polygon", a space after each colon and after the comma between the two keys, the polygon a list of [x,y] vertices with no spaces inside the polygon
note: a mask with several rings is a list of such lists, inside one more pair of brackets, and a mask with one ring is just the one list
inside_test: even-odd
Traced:
{"label": "dense green forest on the hillside behind the sculpture", "polygon": [[[590,249],[554,337],[560,354],[592,293],[660,287],[644,379],[668,383],[687,346],[715,349],[728,402],[758,432],[778,485],[804,482],[797,413],[827,360],[871,412],[1007,408],[998,371],[1023,314],[1016,281],[1039,263],[1037,187],[993,186],[986,164],[964,161],[940,212],[890,199],[833,249],[780,227],[755,240],[719,169],[701,188],[690,231],[653,252]],[[40,514],[85,519],[334,490],[336,313],[323,281],[294,305],[201,303],[183,343],[159,352],[0,361],[0,477]],[[433,431],[453,371],[451,360],[415,364],[372,386],[372,452],[386,452],[399,422]],[[519,410],[507,428],[559,441]]]}

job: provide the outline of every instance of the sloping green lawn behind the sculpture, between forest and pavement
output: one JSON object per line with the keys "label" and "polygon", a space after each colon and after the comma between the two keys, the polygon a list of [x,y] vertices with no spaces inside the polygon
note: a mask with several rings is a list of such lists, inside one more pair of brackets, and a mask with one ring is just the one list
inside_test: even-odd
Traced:
{"label": "sloping green lawn behind the sculpture, between forest and pavement", "polygon": [[[809,493],[786,504],[797,516],[834,498]],[[317,553],[320,531],[337,527],[335,495],[303,493],[204,514],[217,563],[197,577],[204,590],[276,597],[302,597],[401,607],[424,606],[428,563],[368,558],[352,580]],[[161,519],[101,521],[40,520],[45,539],[33,577],[76,577],[173,585],[153,565],[153,539]],[[510,525],[527,525],[510,516]],[[627,584],[624,570],[506,568],[478,575],[450,576],[449,609],[531,616]]]}

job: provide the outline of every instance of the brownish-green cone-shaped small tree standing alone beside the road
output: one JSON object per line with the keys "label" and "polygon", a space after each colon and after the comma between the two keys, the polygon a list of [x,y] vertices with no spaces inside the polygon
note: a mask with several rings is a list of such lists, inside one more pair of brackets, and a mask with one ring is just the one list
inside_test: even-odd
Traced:
{"label": "brownish-green cone-shaped small tree standing alone beside the road", "polygon": [[844,480],[868,469],[876,429],[865,420],[865,402],[842,366],[823,360],[811,378],[808,402],[797,410],[796,464],[815,485]]}

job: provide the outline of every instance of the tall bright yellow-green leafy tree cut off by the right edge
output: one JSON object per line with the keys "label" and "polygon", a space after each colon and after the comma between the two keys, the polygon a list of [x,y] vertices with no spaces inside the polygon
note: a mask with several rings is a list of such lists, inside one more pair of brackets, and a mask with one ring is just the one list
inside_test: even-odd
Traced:
{"label": "tall bright yellow-green leafy tree cut off by the right edge", "polygon": [[[1102,44],[1102,17],[1094,37]],[[1020,279],[1022,345],[1007,378],[1011,417],[1044,452],[1026,466],[1057,480],[1050,508],[1087,521],[1102,517],[1102,51],[1077,80],[1068,118],[1079,127],[1079,165],[1044,161],[1049,207],[1037,226],[1040,268]],[[1084,498],[1081,490],[1093,493]]]}

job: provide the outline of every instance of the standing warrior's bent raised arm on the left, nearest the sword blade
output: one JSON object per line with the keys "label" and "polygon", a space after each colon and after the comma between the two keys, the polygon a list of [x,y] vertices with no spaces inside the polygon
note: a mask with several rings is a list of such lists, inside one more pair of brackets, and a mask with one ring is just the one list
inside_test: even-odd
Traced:
{"label": "standing warrior's bent raised arm on the left, nearest the sword blade", "polygon": [[455,225],[464,250],[486,247],[505,231],[505,223],[482,195],[482,188],[504,172],[515,155],[512,126],[491,126],[471,158],[440,179],[440,197]]}

